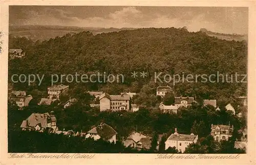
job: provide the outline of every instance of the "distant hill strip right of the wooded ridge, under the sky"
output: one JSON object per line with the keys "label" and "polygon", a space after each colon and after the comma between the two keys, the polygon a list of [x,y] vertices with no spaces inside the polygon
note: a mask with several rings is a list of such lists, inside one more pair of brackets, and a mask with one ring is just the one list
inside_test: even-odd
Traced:
{"label": "distant hill strip right of the wooded ridge, under the sky", "polygon": [[205,28],[200,29],[201,32],[206,33],[208,36],[211,37],[217,37],[219,39],[225,39],[225,40],[235,40],[235,41],[242,41],[242,40],[248,40],[247,35],[240,35],[240,34],[223,34],[223,33],[216,33],[206,30]]}

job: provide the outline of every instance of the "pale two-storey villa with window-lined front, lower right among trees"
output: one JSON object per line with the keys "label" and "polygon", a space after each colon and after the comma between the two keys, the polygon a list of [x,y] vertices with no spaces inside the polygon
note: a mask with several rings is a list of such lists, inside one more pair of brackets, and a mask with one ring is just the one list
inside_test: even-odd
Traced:
{"label": "pale two-storey villa with window-lined front, lower right among trees", "polygon": [[228,140],[229,137],[232,136],[233,132],[233,126],[227,126],[227,125],[213,125],[211,124],[211,136],[214,137],[214,139],[217,142],[220,142],[220,140]]}

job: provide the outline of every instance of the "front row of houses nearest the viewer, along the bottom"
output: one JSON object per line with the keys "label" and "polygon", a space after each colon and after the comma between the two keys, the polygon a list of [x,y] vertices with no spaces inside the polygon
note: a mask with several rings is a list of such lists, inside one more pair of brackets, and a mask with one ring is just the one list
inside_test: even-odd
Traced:
{"label": "front row of houses nearest the viewer, along the bottom", "polygon": [[[116,143],[117,141],[117,131],[111,126],[105,123],[101,123],[98,126],[92,127],[87,132],[74,132],[73,130],[63,131],[58,130],[57,120],[54,112],[49,113],[32,113],[26,120],[20,125],[22,130],[34,130],[39,132],[49,132],[56,134],[63,134],[67,136],[81,136],[84,138],[93,138],[94,140],[103,139],[111,143]],[[217,142],[221,140],[228,140],[232,136],[233,126],[229,125],[211,125],[211,136]],[[163,134],[158,136],[157,149],[161,141]],[[151,148],[152,137],[144,135],[138,132],[132,132],[128,137],[123,138],[122,143],[125,147],[132,147],[137,150]],[[179,134],[175,128],[175,132],[172,133],[165,141],[165,150],[169,147],[175,147],[179,152],[183,153],[189,144],[197,143],[198,135],[191,134]],[[245,141],[245,140],[244,140]],[[236,142],[236,146],[241,148],[241,146],[246,147],[246,142]]]}

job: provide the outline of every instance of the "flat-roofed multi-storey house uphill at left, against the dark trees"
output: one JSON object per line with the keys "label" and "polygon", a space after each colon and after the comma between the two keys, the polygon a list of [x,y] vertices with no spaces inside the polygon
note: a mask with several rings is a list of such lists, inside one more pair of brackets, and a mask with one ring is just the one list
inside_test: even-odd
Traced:
{"label": "flat-roofed multi-storey house uphill at left, against the dark trees", "polygon": [[48,97],[49,99],[52,99],[52,98],[59,99],[60,93],[65,93],[68,91],[68,89],[69,89],[69,86],[63,85],[63,84],[50,86],[47,88]]}

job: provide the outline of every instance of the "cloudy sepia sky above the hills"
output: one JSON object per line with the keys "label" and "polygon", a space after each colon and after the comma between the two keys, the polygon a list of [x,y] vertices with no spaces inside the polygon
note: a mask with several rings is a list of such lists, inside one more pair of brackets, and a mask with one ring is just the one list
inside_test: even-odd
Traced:
{"label": "cloudy sepia sky above the hills", "polygon": [[97,28],[205,28],[218,33],[248,33],[246,7],[10,6],[9,25]]}

